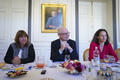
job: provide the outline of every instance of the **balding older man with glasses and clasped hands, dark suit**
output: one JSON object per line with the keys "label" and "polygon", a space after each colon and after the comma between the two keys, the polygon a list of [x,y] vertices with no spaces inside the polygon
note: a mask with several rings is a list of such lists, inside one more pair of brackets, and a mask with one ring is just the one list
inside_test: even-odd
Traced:
{"label": "balding older man with glasses and clasped hands, dark suit", "polygon": [[69,31],[67,28],[59,27],[59,39],[51,42],[51,56],[53,62],[64,61],[65,55],[70,55],[71,60],[78,60],[75,41],[69,39]]}

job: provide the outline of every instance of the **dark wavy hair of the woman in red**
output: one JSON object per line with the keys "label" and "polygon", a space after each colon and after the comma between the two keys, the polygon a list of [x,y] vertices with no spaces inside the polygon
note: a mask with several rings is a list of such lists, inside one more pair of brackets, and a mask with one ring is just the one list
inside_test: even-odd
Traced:
{"label": "dark wavy hair of the woman in red", "polygon": [[92,42],[95,42],[95,43],[99,44],[98,36],[99,36],[100,32],[102,32],[102,31],[105,31],[105,32],[106,32],[107,40],[106,40],[106,42],[105,42],[105,45],[107,45],[107,44],[109,43],[109,36],[108,36],[108,32],[107,32],[105,29],[99,29],[99,30],[97,30],[97,31],[95,32],[95,34],[94,34],[94,37],[93,37]]}

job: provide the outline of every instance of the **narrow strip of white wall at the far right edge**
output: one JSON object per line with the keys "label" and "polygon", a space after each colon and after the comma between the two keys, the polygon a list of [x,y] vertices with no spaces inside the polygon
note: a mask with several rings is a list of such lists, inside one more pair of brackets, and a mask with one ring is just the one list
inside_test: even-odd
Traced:
{"label": "narrow strip of white wall at the far right edge", "polygon": [[117,47],[120,48],[120,0],[116,0]]}

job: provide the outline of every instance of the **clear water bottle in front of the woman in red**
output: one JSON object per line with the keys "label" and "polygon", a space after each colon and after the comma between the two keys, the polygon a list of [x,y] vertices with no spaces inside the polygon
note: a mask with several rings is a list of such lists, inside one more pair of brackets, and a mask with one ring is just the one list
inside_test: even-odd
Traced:
{"label": "clear water bottle in front of the woman in red", "polygon": [[95,47],[95,50],[93,51],[93,60],[94,60],[95,66],[98,67],[100,65],[100,53],[99,53],[98,47]]}

